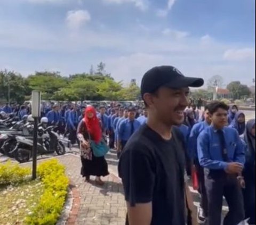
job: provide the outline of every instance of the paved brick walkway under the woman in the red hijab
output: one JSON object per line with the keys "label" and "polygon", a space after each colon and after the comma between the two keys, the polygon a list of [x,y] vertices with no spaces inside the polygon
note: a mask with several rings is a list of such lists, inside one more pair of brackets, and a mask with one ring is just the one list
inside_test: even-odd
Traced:
{"label": "paved brick walkway under the woman in the red hijab", "polygon": [[126,204],[123,187],[114,174],[103,178],[105,185],[99,187],[84,182],[80,176],[79,157],[67,154],[58,157],[58,160],[66,166],[66,172],[78,188],[81,198],[74,225],[124,225]]}

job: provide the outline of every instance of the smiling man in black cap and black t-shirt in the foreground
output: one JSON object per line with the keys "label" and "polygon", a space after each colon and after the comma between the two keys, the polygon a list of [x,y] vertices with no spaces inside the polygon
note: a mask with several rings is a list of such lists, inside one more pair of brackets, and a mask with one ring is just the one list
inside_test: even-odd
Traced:
{"label": "smiling man in black cap and black t-shirt in the foreground", "polygon": [[[126,224],[187,223],[185,149],[183,137],[174,126],[184,120],[188,87],[203,83],[203,79],[183,76],[173,66],[157,66],[143,76],[141,95],[148,121],[129,139],[118,165],[127,203]],[[187,204],[193,210],[189,195]]]}

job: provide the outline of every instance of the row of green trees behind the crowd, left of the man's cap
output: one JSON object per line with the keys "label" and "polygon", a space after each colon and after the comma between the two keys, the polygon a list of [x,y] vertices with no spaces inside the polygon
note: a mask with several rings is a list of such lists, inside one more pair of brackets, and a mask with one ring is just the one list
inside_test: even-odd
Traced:
{"label": "row of green trees behind the crowd, left of the man's cap", "polygon": [[136,84],[123,87],[122,81],[117,82],[106,72],[105,63],[99,63],[94,71],[91,66],[89,73],[61,76],[60,72],[36,71],[28,77],[13,71],[0,71],[0,101],[8,101],[10,84],[10,102],[23,103],[30,99],[32,90],[39,90],[42,99],[55,101],[84,100],[136,100],[140,89]]}

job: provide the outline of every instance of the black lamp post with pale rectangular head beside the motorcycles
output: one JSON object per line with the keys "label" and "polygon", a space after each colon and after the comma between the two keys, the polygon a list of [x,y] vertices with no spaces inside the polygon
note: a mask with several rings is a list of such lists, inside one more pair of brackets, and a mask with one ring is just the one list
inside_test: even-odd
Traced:
{"label": "black lamp post with pale rectangular head beside the motorcycles", "polygon": [[36,160],[37,160],[37,132],[38,132],[38,118],[40,117],[40,91],[32,91],[32,116],[34,118],[34,138],[33,138],[33,166],[32,166],[32,179],[36,179]]}

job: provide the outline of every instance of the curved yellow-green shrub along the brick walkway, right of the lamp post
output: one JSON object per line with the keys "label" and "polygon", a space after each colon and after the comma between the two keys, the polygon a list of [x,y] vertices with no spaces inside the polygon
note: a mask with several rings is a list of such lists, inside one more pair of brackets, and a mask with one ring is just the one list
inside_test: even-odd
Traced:
{"label": "curved yellow-green shrub along the brick walkway, right of the lamp post", "polygon": [[38,177],[44,184],[44,193],[26,223],[30,225],[56,224],[65,203],[69,180],[65,166],[53,159],[43,162],[37,168]]}

